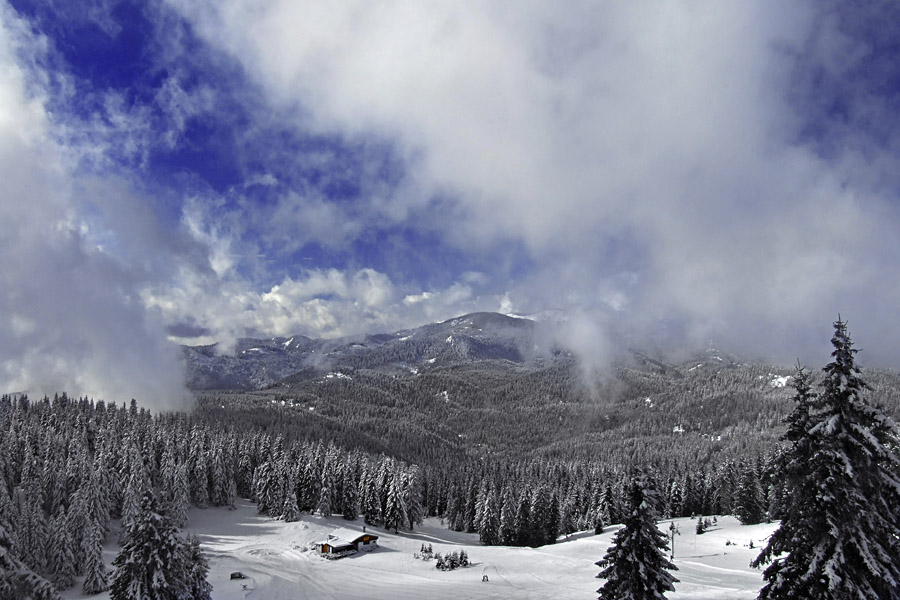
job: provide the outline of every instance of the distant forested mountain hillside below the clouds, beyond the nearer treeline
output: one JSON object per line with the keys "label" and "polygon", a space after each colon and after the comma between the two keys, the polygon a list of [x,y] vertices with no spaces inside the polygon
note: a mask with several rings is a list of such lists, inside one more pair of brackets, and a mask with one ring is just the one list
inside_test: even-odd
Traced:
{"label": "distant forested mountain hillside below the clouds, beyond the nearer treeline", "polygon": [[[216,418],[237,413],[414,462],[451,453],[704,466],[776,444],[791,368],[712,349],[677,362],[623,350],[588,378],[546,342],[547,326],[476,313],[393,334],[244,339],[232,354],[185,356],[201,408]],[[867,380],[900,414],[897,374]],[[201,389],[214,382],[222,389]]]}

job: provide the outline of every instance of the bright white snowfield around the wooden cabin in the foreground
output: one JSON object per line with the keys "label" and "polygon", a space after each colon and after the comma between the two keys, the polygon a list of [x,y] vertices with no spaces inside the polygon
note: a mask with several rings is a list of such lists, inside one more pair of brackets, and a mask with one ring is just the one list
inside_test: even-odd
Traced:
{"label": "bright white snowfield around the wooden cabin in the foreground", "polygon": [[[719,517],[703,535],[696,535],[696,521],[675,519],[681,534],[675,538],[675,564],[681,580],[672,600],[750,600],[762,587],[762,574],[748,565],[774,524],[742,526],[733,517]],[[668,531],[670,521],[660,529]],[[415,532],[395,535],[378,527],[367,530],[379,536],[379,548],[369,553],[329,561],[313,551],[316,541],[340,527],[362,528],[362,521],[339,516],[303,515],[284,523],[256,512],[256,506],[239,500],[236,510],[193,509],[185,533],[200,537],[210,563],[209,581],[215,600],[575,600],[594,598],[603,581],[594,564],[603,557],[616,527],[601,535],[581,532],[540,548],[485,547],[477,534],[449,531],[437,519],[426,519]],[[110,539],[115,539],[111,535]],[[755,549],[748,547],[753,540]],[[726,545],[730,541],[733,545]],[[464,549],[473,564],[454,571],[438,571],[433,561],[417,560],[420,546],[432,544],[446,553]],[[117,548],[104,553],[110,566]],[[111,568],[111,567],[110,567]],[[240,571],[247,579],[229,579]],[[489,581],[483,583],[482,575]],[[95,596],[81,593],[81,579],[63,593],[66,599],[108,600],[109,592]]]}

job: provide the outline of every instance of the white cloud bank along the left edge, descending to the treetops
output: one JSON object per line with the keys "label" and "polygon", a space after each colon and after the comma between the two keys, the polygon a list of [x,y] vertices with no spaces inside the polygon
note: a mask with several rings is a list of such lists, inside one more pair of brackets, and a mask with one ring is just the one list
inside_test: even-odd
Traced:
{"label": "white cloud bank along the left edge, descending to the treetops", "polygon": [[41,73],[21,66],[33,67],[45,48],[0,6],[0,381],[34,395],[185,406],[177,348],[135,295],[141,267],[103,251],[98,243],[113,237],[83,210],[90,194],[121,189],[73,177],[44,109]]}

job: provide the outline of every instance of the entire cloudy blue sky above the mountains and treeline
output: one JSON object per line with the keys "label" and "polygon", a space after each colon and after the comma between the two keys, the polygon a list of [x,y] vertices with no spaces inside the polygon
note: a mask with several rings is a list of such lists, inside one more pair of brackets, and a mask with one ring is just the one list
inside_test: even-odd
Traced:
{"label": "entire cloudy blue sky above the mountains and treeline", "polygon": [[814,367],[900,343],[893,2],[0,0],[0,381],[476,310]]}

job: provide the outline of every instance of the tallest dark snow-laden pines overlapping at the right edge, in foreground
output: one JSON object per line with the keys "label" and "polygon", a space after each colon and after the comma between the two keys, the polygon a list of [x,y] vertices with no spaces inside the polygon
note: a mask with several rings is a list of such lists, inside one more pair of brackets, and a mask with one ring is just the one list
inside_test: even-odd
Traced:
{"label": "tallest dark snow-laden pines overlapping at the right edge, in foreground", "polygon": [[[838,318],[816,398],[798,373],[783,518],[753,562],[771,562],[761,600],[900,596],[900,432],[869,404],[857,350]],[[787,553],[787,556],[779,556]]]}

